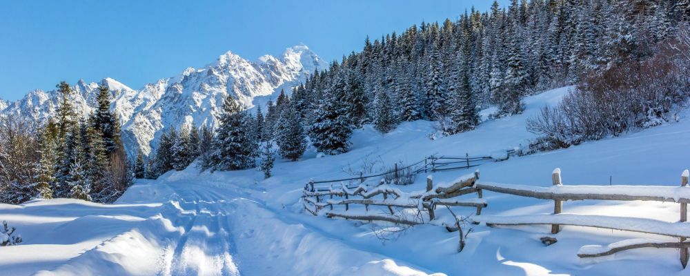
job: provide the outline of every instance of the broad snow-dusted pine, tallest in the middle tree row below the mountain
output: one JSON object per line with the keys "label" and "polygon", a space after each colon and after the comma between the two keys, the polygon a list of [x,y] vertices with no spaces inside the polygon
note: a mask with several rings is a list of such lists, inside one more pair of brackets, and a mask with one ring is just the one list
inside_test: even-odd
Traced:
{"label": "broad snow-dusted pine, tallest in the middle tree row below the mountain", "polygon": [[254,164],[257,144],[248,133],[247,114],[235,99],[224,100],[219,127],[213,141],[214,170],[242,170]]}

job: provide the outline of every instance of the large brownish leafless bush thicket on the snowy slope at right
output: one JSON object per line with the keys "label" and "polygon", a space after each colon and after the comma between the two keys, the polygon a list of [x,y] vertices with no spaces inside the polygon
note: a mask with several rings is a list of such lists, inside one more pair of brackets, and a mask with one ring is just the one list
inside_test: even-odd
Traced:
{"label": "large brownish leafless bush thicket on the snowy slope at right", "polygon": [[529,119],[527,130],[542,135],[542,148],[566,148],[669,121],[673,108],[690,97],[690,42],[683,39],[680,32],[680,39],[660,43],[649,59],[583,77],[558,106]]}

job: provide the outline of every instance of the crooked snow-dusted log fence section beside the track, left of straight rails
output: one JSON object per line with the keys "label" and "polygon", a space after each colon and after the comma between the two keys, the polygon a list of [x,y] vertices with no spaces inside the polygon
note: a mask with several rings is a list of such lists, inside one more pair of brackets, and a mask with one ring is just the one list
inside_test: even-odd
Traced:
{"label": "crooked snow-dusted log fence section beside the track, left of straight rails", "polygon": [[[479,171],[460,177],[452,184],[433,186],[433,179],[431,176],[426,179],[426,190],[404,193],[397,188],[386,184],[384,179],[376,186],[366,184],[359,184],[357,187],[349,187],[345,184],[339,186],[331,185],[328,188],[317,189],[314,186],[315,181],[310,181],[304,187],[303,201],[304,209],[312,215],[319,215],[319,211],[324,208],[330,210],[326,213],[326,217],[341,217],[344,219],[355,219],[364,221],[388,221],[395,224],[405,224],[414,226],[417,224],[424,224],[435,219],[436,206],[459,206],[472,207],[476,209],[476,214],[482,213],[482,208],[486,208],[487,204],[482,199],[482,193],[477,190],[475,182],[479,179]],[[456,199],[460,195],[467,195],[470,193],[477,193],[477,199]],[[378,195],[382,195],[382,199],[375,199]],[[328,197],[326,199],[325,197]],[[334,199],[334,197],[341,197]],[[359,198],[352,198],[359,197]],[[364,212],[350,210],[351,204],[358,204],[364,206]],[[371,213],[369,206],[385,206],[388,209],[388,214]],[[333,206],[344,206],[344,211],[333,210]],[[393,208],[400,208],[394,210]],[[404,215],[403,210],[416,209],[417,216],[410,218]],[[449,209],[450,210],[450,209]],[[425,221],[420,215],[422,212],[428,214],[428,220]],[[451,211],[452,212],[452,211]],[[455,217],[455,215],[453,215]],[[460,221],[457,221],[455,227],[446,227],[447,230],[453,232],[460,230],[460,249],[464,247],[462,229],[460,228]]]}

